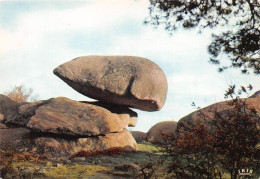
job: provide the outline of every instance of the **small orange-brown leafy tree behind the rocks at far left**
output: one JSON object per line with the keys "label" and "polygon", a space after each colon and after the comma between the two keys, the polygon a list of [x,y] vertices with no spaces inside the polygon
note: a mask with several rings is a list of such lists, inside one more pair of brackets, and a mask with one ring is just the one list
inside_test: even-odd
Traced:
{"label": "small orange-brown leafy tree behind the rocks at far left", "polygon": [[36,101],[38,99],[38,95],[33,95],[33,89],[26,89],[23,85],[15,86],[5,94],[18,103]]}

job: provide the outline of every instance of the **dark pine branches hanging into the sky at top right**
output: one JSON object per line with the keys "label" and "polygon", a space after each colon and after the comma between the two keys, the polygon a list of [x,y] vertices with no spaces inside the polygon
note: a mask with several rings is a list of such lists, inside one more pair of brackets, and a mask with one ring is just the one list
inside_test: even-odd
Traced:
{"label": "dark pine branches hanging into the sky at top right", "polygon": [[[150,0],[150,17],[145,23],[167,31],[180,27],[199,31],[218,29],[212,33],[208,46],[210,62],[221,65],[222,54],[230,59],[229,66],[242,73],[260,74],[260,1],[258,0]],[[213,32],[214,32],[213,30]],[[215,30],[216,32],[216,30]]]}

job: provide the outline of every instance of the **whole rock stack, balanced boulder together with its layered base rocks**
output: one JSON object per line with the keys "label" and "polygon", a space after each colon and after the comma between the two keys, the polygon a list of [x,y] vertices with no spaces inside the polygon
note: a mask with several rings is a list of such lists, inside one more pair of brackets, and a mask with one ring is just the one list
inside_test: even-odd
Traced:
{"label": "whole rock stack, balanced boulder together with its layered base rocks", "polygon": [[1,144],[55,157],[113,148],[136,151],[136,141],[126,130],[137,122],[130,108],[158,111],[166,99],[165,74],[145,58],[79,57],[54,69],[54,74],[98,101],[58,97],[18,104],[2,95]]}

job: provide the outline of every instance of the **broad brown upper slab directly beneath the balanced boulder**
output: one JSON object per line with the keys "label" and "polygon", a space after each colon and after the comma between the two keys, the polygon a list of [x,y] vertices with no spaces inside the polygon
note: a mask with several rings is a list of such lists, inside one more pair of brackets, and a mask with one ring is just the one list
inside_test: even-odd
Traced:
{"label": "broad brown upper slab directly beneath the balanced boulder", "polygon": [[43,133],[97,136],[122,131],[123,124],[117,115],[102,107],[59,97],[37,108],[27,128]]}

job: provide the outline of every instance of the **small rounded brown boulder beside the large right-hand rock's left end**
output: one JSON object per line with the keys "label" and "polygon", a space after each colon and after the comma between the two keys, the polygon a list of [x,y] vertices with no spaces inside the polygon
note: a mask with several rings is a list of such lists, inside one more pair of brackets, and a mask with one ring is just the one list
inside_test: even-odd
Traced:
{"label": "small rounded brown boulder beside the large right-hand rock's left end", "polygon": [[169,137],[176,135],[177,122],[162,121],[152,126],[147,132],[147,141],[162,144]]}

